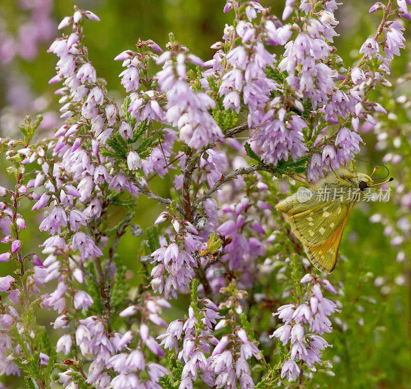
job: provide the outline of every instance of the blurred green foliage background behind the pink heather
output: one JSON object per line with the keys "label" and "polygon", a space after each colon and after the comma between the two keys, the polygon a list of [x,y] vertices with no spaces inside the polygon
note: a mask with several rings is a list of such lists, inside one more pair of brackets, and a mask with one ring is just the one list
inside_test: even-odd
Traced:
{"label": "blurred green foliage background behind the pink heather", "polygon": [[[268,2],[264,2],[268,4]],[[337,18],[340,25],[337,31],[340,36],[335,38],[335,46],[344,59],[346,65],[353,64],[359,57],[358,49],[362,42],[375,33],[380,22],[379,14],[368,14],[373,1],[347,0]],[[71,0],[54,1],[54,16],[60,21],[63,16],[72,13]],[[125,96],[125,91],[120,85],[118,74],[122,71],[121,62],[112,61],[118,53],[128,48],[133,49],[138,38],[153,39],[161,47],[168,41],[167,34],[172,31],[176,39],[186,45],[193,53],[204,60],[213,55],[210,46],[221,39],[225,23],[230,23],[231,14],[223,14],[223,1],[216,0],[106,0],[106,1],[79,1],[80,8],[90,9],[99,15],[101,22],[88,22],[85,24],[85,33],[90,59],[97,68],[98,76],[107,80],[107,87],[112,96]],[[281,15],[284,2],[270,2],[270,6]],[[0,12],[7,21],[9,30],[15,29],[20,23],[22,14],[17,3],[12,0],[0,0]],[[60,33],[56,30],[56,36]],[[411,34],[405,32],[408,41]],[[51,43],[51,42],[50,42]],[[401,58],[395,58],[393,64],[393,84],[396,78],[405,71],[409,71],[408,62],[410,54],[409,42]],[[38,94],[46,94],[51,107],[57,107],[58,98],[53,95],[54,85],[47,81],[54,75],[55,58],[46,53],[47,47],[42,47],[38,58],[34,62],[17,61],[23,73],[31,78],[31,87]],[[153,72],[156,69],[153,69]],[[0,77],[0,106],[5,104],[3,72]],[[398,88],[392,88],[394,96],[398,96]],[[391,93],[391,92],[389,92]],[[397,121],[388,121],[391,129],[406,128],[410,115],[390,100],[390,95],[376,94],[376,101],[381,101],[383,106],[390,101],[391,109],[398,116]],[[405,124],[404,124],[405,123]],[[409,128],[408,128],[409,131]],[[381,161],[385,153],[376,152],[374,145],[375,135],[364,135],[366,145],[363,146],[362,158],[371,161]],[[409,139],[404,136],[400,153],[404,162],[396,169],[396,180],[393,188],[404,184],[406,191],[410,190]],[[389,146],[392,147],[392,146]],[[2,161],[3,163],[3,161]],[[357,170],[370,173],[372,166],[359,163]],[[0,176],[2,184],[7,184],[8,177]],[[5,182],[3,182],[5,181]],[[156,188],[160,195],[166,196],[170,180],[157,179]],[[154,188],[154,186],[153,186]],[[144,230],[150,226],[162,210],[154,202],[141,198],[139,207],[134,217],[134,223],[139,224]],[[330,277],[331,283],[344,283],[344,295],[339,296],[342,303],[342,313],[338,315],[339,321],[334,325],[334,331],[326,335],[326,339],[333,348],[325,351],[325,359],[333,361],[332,371],[334,377],[323,373],[315,375],[311,385],[319,384],[321,387],[328,385],[332,388],[368,388],[368,387],[411,387],[411,318],[410,318],[410,271],[409,271],[409,233],[405,236],[404,248],[408,256],[405,262],[396,262],[398,249],[389,243],[390,238],[383,235],[384,227],[381,224],[370,224],[368,218],[373,213],[388,215],[393,223],[400,216],[409,218],[409,209],[400,209],[393,201],[389,203],[362,203],[354,209],[347,221],[343,240],[340,248],[345,261],[340,258],[339,264]],[[113,219],[113,226],[124,217],[124,212],[119,211]],[[32,220],[32,223],[34,220]],[[29,225],[32,223],[28,223]],[[23,240],[33,248],[43,242],[42,235],[36,228],[28,228]],[[119,254],[130,269],[126,273],[127,282],[137,286],[141,281],[140,266],[136,254],[141,239],[133,237],[127,231],[120,245]],[[7,265],[2,264],[1,273],[6,273]],[[405,284],[395,282],[398,275],[405,277]],[[383,277],[384,285],[380,286],[377,277]],[[376,282],[377,278],[377,282]],[[275,289],[275,280],[269,280]],[[385,288],[384,288],[385,287]],[[175,309],[171,310],[169,319],[181,316],[188,305],[188,298],[178,301]],[[260,307],[256,307],[260,309]],[[260,331],[266,330],[271,334],[273,322],[271,311],[251,318],[253,328]],[[40,318],[42,324],[48,325],[50,317]],[[16,387],[16,383],[11,384]]]}

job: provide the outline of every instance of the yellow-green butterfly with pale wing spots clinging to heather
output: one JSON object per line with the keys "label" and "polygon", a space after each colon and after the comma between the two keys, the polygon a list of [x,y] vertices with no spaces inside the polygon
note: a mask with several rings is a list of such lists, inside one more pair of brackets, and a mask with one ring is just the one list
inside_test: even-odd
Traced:
{"label": "yellow-green butterfly with pale wing spots clinging to heather", "polygon": [[299,188],[276,205],[277,211],[287,215],[292,231],[318,270],[328,274],[334,270],[348,215],[354,202],[372,186],[371,176],[342,168],[313,187]]}

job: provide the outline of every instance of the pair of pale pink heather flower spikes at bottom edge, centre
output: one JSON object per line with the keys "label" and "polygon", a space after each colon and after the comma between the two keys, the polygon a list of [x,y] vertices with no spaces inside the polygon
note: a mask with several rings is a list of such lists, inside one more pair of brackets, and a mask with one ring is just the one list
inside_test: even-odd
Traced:
{"label": "pair of pale pink heather flower spikes at bottom edge, centre", "polygon": [[[195,287],[195,284],[194,284]],[[226,289],[221,290],[226,293]],[[193,291],[195,294],[195,292]],[[178,351],[178,360],[182,362],[180,389],[193,388],[198,372],[202,382],[211,387],[241,388],[254,386],[248,360],[261,358],[261,353],[249,340],[246,331],[236,325],[233,308],[240,309],[237,299],[247,297],[247,292],[237,291],[235,297],[227,299],[217,307],[209,299],[193,300],[189,308],[189,317],[170,323],[164,334],[160,335],[164,348]],[[199,309],[197,304],[203,308]],[[218,313],[220,309],[231,308],[231,318],[225,319]],[[218,322],[217,322],[218,321]],[[214,328],[213,328],[214,327]],[[212,330],[230,328],[228,335],[217,339]],[[182,347],[179,347],[182,344]]]}

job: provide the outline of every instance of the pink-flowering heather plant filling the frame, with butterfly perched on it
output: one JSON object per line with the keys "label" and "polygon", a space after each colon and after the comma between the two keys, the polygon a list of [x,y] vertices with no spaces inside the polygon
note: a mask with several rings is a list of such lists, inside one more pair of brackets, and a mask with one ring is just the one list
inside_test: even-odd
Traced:
{"label": "pink-flowering heather plant filling the frame, with butterfly perched on it", "polygon": [[[351,369],[348,356],[356,327],[375,339],[371,360],[384,346],[380,321],[395,326],[390,309],[409,315],[394,289],[409,283],[411,76],[394,89],[390,72],[405,48],[411,2],[372,5],[381,21],[352,66],[334,46],[339,5],[287,0],[277,17],[258,2],[229,0],[223,12],[233,22],[211,42],[208,61],[172,33],[163,48],[138,39],[114,59],[122,101],[110,96],[86,45],[87,25],[104,20],[78,7],[64,17],[48,50],[57,57],[49,82],[59,128],[47,133],[40,115],[26,117],[18,137],[0,139],[13,180],[0,187],[0,262],[11,269],[0,277],[4,387],[389,380],[385,369],[373,375],[366,358]],[[331,278],[312,267],[274,207],[299,181],[355,163],[371,129],[403,182],[369,217],[398,247],[399,266],[376,275],[347,250]],[[147,201],[158,217],[142,229],[134,220]],[[28,227],[41,237],[35,252],[23,238]],[[378,252],[367,255],[372,263]],[[406,371],[409,349],[399,340],[390,347],[401,350],[396,363]]]}

